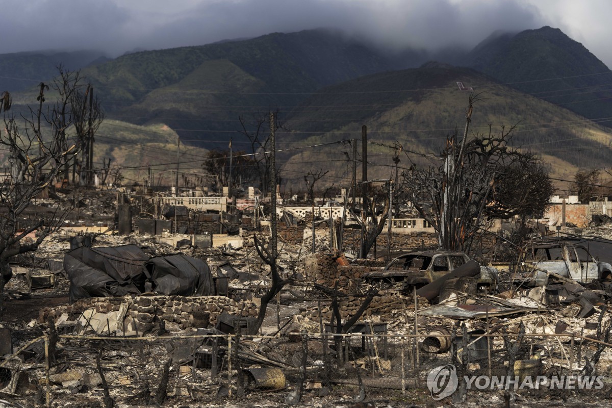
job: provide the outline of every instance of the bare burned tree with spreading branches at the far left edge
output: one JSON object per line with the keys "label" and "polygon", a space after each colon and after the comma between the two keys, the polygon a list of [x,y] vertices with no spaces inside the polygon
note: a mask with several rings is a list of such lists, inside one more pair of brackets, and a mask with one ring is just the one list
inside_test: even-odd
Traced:
{"label": "bare burned tree with spreading branches at the far left edge", "polygon": [[[64,89],[65,76],[59,84]],[[74,83],[72,83],[72,86]],[[68,84],[68,87],[70,83]],[[4,92],[1,109],[4,112],[4,130],[0,145],[7,152],[9,174],[0,185],[3,208],[0,217],[0,300],[4,285],[12,277],[9,260],[18,254],[36,250],[51,232],[61,226],[69,209],[56,207],[50,213],[29,213],[32,199],[50,187],[65,169],[65,165],[78,154],[78,139],[69,138],[70,113],[63,107],[69,92],[61,92],[53,104],[46,103],[45,91],[40,84],[37,108],[29,108],[29,116],[20,119],[10,116],[10,95]],[[24,220],[26,218],[26,220]],[[34,239],[28,238],[36,232]]]}

